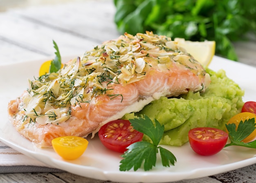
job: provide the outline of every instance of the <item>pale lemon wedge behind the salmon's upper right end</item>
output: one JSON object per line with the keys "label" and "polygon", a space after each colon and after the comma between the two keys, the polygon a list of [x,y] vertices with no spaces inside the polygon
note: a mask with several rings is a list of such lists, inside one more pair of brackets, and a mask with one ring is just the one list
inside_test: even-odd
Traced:
{"label": "pale lemon wedge behind the salmon's upper right end", "polygon": [[215,54],[215,41],[186,41],[183,38],[175,38],[174,41],[203,66],[207,67],[211,63]]}

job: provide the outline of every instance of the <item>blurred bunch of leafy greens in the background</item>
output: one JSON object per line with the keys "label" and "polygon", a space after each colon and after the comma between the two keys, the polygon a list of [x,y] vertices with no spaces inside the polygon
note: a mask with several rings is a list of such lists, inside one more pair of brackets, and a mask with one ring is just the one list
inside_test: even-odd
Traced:
{"label": "blurred bunch of leafy greens in the background", "polygon": [[237,60],[232,42],[256,35],[256,0],[114,0],[120,33],[216,41],[216,54]]}

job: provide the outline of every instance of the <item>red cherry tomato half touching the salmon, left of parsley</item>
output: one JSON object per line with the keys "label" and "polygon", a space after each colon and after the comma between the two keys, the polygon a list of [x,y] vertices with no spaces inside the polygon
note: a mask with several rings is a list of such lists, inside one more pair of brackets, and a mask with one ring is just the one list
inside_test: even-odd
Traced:
{"label": "red cherry tomato half touching the salmon, left of parsley", "polygon": [[106,148],[125,152],[132,143],[142,140],[143,133],[135,130],[130,121],[118,119],[103,125],[99,130],[99,139]]}

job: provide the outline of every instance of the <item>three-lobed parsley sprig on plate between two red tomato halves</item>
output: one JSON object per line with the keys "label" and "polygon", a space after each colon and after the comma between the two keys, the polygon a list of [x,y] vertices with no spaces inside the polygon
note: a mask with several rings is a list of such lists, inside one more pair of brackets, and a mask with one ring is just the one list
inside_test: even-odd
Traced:
{"label": "three-lobed parsley sprig on plate between two red tomato halves", "polygon": [[144,170],[148,171],[155,166],[157,160],[157,153],[160,152],[162,165],[170,167],[170,163],[174,165],[176,157],[169,150],[158,146],[163,134],[164,125],[155,119],[155,125],[146,115],[144,118],[129,120],[133,128],[139,132],[147,135],[152,143],[147,141],[139,141],[128,146],[128,150],[121,155],[124,159],[120,161],[120,171],[128,171],[130,169],[138,170],[142,163],[144,163]]}

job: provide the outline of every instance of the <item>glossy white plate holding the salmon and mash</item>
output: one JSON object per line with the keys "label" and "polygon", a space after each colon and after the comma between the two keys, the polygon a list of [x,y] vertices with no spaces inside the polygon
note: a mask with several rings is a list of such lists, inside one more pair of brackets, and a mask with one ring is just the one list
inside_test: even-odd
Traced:
{"label": "glossy white plate holding the salmon and mash", "polygon": [[[7,117],[7,104],[27,89],[27,79],[38,75],[43,61],[23,62],[0,66],[0,141],[23,154],[33,157],[55,168],[66,170],[80,176],[117,182],[171,182],[210,176],[238,169],[256,163],[256,151],[243,147],[228,147],[220,153],[203,157],[195,154],[189,143],[182,147],[164,146],[177,158],[175,166],[164,168],[158,160],[153,170],[144,172],[120,172],[119,153],[104,148],[98,138],[90,139],[88,149],[74,161],[64,161],[52,149],[40,149],[14,130]],[[245,90],[244,101],[256,101],[256,68],[214,57],[210,68],[217,71],[225,69],[227,76],[234,79]]]}

